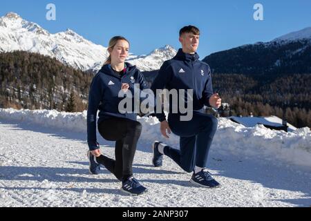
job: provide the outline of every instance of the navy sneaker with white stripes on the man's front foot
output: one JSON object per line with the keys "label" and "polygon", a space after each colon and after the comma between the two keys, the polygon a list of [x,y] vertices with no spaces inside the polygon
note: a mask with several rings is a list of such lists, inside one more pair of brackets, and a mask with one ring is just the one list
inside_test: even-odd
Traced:
{"label": "navy sneaker with white stripes on the man's front foot", "polygon": [[209,173],[207,169],[202,169],[202,171],[194,173],[190,182],[206,188],[217,188],[220,186],[220,184],[211,177],[211,173]]}

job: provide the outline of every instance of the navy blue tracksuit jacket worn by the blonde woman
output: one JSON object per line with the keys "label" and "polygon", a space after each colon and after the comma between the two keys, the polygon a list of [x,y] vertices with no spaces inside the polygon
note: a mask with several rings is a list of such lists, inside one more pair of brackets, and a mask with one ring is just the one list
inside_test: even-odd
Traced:
{"label": "navy blue tracksuit jacket worn by the blonde woman", "polygon": [[136,120],[135,113],[120,113],[118,106],[123,98],[118,97],[122,84],[129,84],[132,94],[134,94],[134,84],[140,84],[140,90],[147,88],[144,77],[136,66],[126,63],[123,75],[117,75],[111,69],[110,65],[104,65],[102,69],[95,75],[91,83],[88,95],[88,113],[87,113],[87,135],[88,148],[90,150],[97,149],[96,138],[96,119],[99,110],[98,124],[104,119],[111,117],[122,117],[126,119]]}

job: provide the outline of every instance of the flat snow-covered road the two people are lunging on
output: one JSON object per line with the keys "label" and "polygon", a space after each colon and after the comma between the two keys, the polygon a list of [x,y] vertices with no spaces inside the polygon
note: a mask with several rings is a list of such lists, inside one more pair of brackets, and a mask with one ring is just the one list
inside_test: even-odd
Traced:
{"label": "flat snow-covered road the two people are lunging on", "polygon": [[[168,157],[153,168],[145,140],[134,174],[149,192],[130,197],[106,169],[88,173],[85,140],[85,133],[0,119],[0,206],[311,206],[308,167],[225,155],[212,146],[209,169],[222,186],[204,189]],[[100,143],[113,156],[113,143]]]}

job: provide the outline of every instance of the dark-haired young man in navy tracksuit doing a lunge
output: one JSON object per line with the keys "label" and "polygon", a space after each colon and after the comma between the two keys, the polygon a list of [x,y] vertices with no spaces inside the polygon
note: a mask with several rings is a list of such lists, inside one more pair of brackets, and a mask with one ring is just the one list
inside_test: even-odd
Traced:
{"label": "dark-haired young man in navy tracksuit doing a lunge", "polygon": [[[179,41],[182,49],[178,50],[176,57],[164,62],[151,86],[155,94],[157,89],[163,88],[167,90],[193,89],[191,101],[183,98],[187,102],[193,102],[193,116],[190,121],[182,121],[180,116],[183,114],[180,112],[171,113],[170,110],[168,122],[163,112],[156,113],[156,117],[161,122],[160,131],[164,137],[169,138],[167,132],[171,133],[171,131],[180,136],[180,150],[156,141],[153,143],[152,160],[154,166],[162,166],[163,155],[167,155],[183,170],[188,173],[194,172],[191,183],[214,188],[220,184],[211,177],[206,164],[218,121],[216,117],[203,113],[203,106],[219,108],[221,99],[217,93],[213,93],[209,66],[198,60],[196,50],[199,37],[200,30],[195,26],[186,26],[180,30]],[[180,101],[180,95],[177,100]],[[176,101],[170,99],[170,109],[173,102]]]}

